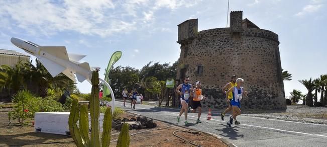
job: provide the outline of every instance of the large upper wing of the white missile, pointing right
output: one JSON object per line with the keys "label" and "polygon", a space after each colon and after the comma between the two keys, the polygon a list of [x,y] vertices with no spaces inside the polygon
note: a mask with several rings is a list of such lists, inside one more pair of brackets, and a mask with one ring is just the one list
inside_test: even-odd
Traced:
{"label": "large upper wing of the white missile, pointing right", "polygon": [[69,57],[65,46],[39,46],[39,48],[40,51],[43,50],[53,56],[69,61]]}

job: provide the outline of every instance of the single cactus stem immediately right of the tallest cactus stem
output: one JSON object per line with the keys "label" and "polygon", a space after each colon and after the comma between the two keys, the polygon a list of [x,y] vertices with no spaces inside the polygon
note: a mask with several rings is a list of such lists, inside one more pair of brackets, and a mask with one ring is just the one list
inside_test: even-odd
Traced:
{"label": "single cactus stem immediately right of the tallest cactus stem", "polygon": [[102,132],[102,146],[109,146],[110,145],[110,139],[111,139],[111,130],[112,130],[112,109],[107,107],[103,116],[103,132]]}

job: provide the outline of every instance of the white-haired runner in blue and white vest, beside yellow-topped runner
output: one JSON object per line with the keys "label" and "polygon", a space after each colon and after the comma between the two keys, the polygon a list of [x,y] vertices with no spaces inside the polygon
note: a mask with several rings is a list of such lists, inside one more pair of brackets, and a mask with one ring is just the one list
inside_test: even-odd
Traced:
{"label": "white-haired runner in blue and white vest, beside yellow-topped runner", "polygon": [[233,115],[230,117],[230,121],[227,122],[227,125],[229,128],[232,128],[233,120],[235,120],[235,124],[240,124],[239,121],[236,120],[236,116],[241,115],[241,100],[242,95],[247,96],[248,92],[245,91],[245,89],[242,86],[244,80],[241,78],[238,78],[236,80],[237,86],[234,88],[231,88],[227,91],[226,96],[228,97],[228,93],[233,93],[233,99],[232,99],[232,105],[233,105]]}

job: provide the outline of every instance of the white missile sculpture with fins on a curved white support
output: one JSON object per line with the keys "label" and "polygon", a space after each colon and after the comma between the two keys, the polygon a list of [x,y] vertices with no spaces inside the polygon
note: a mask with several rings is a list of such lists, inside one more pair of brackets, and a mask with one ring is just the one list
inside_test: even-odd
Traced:
{"label": "white missile sculpture with fins on a curved white support", "polygon": [[[23,49],[25,52],[36,56],[44,67],[48,70],[52,77],[56,77],[59,73],[63,73],[69,79],[76,82],[75,76],[78,82],[87,80],[89,83],[92,77],[92,70],[99,69],[100,67],[90,67],[87,62],[78,62],[86,55],[68,54],[65,46],[40,46],[31,41],[25,41],[18,38],[12,38],[11,42],[17,47]],[[104,80],[99,80],[104,83],[111,92],[112,95],[112,112],[115,109],[115,96],[110,85]]]}

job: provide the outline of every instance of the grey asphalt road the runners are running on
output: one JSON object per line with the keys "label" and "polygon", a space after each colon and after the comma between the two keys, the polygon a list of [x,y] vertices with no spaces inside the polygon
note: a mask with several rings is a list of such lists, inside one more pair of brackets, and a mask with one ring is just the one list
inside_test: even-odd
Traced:
{"label": "grey asphalt road the runners are running on", "polygon": [[[123,102],[119,101],[116,101],[116,105],[128,112],[172,123],[177,123],[176,117],[179,114],[179,110],[171,108],[137,104],[133,110],[123,107]],[[129,105],[130,103],[127,106]],[[196,124],[197,113],[189,113],[188,127],[214,133],[236,146],[327,146],[327,125],[239,116],[241,124],[228,128],[218,114],[212,115],[213,119],[206,120],[207,114],[203,113],[202,123]],[[183,122],[184,115],[179,125],[184,125]]]}

